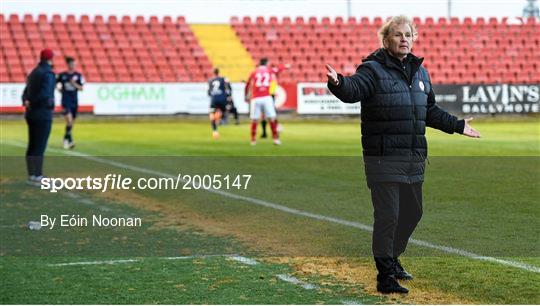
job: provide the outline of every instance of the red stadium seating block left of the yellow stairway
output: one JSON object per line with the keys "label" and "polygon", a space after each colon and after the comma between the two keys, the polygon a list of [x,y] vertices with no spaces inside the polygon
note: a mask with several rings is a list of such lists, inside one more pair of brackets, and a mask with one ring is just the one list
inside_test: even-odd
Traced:
{"label": "red stadium seating block left of the yellow stairway", "polygon": [[44,47],[55,51],[56,71],[73,56],[90,82],[201,82],[212,70],[183,17],[0,16],[2,82],[23,82]]}

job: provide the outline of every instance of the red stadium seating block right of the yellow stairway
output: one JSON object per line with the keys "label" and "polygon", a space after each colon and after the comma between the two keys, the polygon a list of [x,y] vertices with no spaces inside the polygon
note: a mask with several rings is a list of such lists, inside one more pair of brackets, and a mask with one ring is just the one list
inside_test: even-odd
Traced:
{"label": "red stadium seating block right of the yellow stairway", "polygon": [[[419,37],[414,53],[425,57],[432,81],[456,83],[537,83],[540,81],[540,28],[535,19],[509,24],[478,18],[447,20],[414,19]],[[254,58],[267,56],[278,63],[292,63],[280,81],[325,80],[323,63],[345,74],[379,47],[379,17],[334,20],[311,17],[232,17],[231,25]]]}

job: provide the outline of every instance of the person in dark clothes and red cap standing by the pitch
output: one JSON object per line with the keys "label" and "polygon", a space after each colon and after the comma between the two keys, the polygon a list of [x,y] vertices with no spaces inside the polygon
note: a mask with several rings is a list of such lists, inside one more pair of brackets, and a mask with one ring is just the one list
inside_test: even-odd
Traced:
{"label": "person in dark clothes and red cap standing by the pitch", "polygon": [[28,75],[22,95],[24,117],[28,124],[26,149],[28,182],[38,186],[43,178],[43,155],[51,133],[56,86],[56,78],[52,71],[53,51],[43,49],[39,56],[39,64]]}

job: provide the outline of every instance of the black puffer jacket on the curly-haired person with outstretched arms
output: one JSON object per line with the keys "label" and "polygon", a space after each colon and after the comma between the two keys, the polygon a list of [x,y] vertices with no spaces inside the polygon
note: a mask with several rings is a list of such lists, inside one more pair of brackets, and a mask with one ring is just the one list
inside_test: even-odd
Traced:
{"label": "black puffer jacket on the curly-haired person with outstretched arms", "polygon": [[350,77],[339,75],[330,91],[346,103],[362,103],[362,147],[368,184],[424,180],[426,126],[463,133],[464,121],[435,104],[422,58],[400,62],[379,49]]}

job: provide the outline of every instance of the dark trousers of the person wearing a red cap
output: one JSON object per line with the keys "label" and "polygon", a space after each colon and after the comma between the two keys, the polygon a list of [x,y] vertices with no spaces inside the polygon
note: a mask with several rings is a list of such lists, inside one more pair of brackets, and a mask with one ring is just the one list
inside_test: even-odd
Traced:
{"label": "dark trousers of the person wearing a red cap", "polygon": [[51,119],[26,118],[28,124],[28,147],[26,149],[26,170],[28,175],[43,174],[43,155],[51,133]]}

